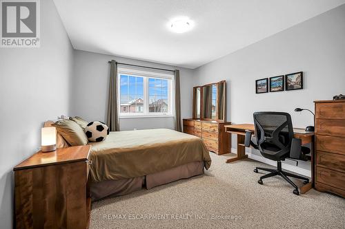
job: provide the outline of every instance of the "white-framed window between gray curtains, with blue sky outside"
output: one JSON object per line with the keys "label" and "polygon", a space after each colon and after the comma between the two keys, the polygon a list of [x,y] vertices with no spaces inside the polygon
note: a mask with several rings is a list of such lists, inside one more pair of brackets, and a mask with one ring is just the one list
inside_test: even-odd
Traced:
{"label": "white-framed window between gray curtains, with blue sky outside", "polygon": [[119,111],[126,116],[172,116],[172,74],[119,68]]}

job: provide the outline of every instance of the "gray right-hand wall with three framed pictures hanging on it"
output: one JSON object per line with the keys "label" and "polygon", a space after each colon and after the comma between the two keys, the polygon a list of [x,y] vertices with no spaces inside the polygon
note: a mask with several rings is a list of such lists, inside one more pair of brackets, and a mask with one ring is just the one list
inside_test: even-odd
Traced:
{"label": "gray right-hand wall with three framed pictures hanging on it", "polygon": [[[255,80],[299,71],[303,90],[255,94]],[[314,100],[345,94],[345,5],[201,66],[195,77],[195,85],[227,81],[231,122],[253,123],[255,111],[286,111],[294,127],[313,125],[311,113],[295,107],[313,111]]]}

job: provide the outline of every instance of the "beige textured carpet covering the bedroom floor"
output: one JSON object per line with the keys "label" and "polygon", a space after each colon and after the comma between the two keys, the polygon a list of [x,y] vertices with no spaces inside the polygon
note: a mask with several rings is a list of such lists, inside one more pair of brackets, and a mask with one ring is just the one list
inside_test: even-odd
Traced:
{"label": "beige textured carpet covering the bedroom floor", "polygon": [[[204,175],[93,203],[90,228],[345,228],[345,199],[293,195],[280,177],[257,184],[253,160],[211,153]],[[296,181],[297,186],[302,182]]]}

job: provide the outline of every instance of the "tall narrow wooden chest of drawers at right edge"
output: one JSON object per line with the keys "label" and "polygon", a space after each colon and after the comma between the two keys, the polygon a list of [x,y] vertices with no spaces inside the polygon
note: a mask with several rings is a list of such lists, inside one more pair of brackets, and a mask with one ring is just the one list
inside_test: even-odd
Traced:
{"label": "tall narrow wooden chest of drawers at right edge", "polygon": [[315,188],[345,197],[345,100],[315,101]]}

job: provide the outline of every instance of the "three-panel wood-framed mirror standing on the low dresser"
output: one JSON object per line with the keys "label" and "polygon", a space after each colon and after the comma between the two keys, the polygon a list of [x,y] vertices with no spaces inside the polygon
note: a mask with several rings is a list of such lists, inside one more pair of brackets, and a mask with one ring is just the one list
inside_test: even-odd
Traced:
{"label": "three-panel wood-framed mirror standing on the low dresser", "polygon": [[193,88],[193,119],[225,121],[226,82]]}

